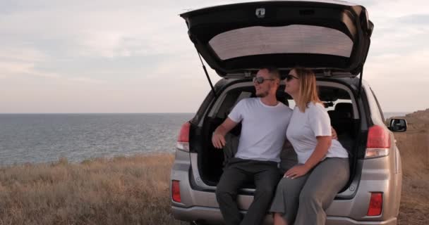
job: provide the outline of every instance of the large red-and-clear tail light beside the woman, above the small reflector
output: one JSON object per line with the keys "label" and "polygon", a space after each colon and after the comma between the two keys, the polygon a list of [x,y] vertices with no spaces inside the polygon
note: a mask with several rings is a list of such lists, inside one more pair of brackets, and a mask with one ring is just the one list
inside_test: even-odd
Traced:
{"label": "large red-and-clear tail light beside the woman, above the small reflector", "polygon": [[368,130],[365,158],[377,158],[389,155],[390,134],[381,126],[373,126]]}

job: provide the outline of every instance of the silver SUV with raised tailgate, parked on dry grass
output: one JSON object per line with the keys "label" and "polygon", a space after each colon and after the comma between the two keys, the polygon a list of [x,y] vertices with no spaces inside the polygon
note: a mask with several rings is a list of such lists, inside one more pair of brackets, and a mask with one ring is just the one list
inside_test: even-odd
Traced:
{"label": "silver SUV with raised tailgate, parked on dry grass", "polygon": [[[397,224],[402,169],[392,131],[406,131],[406,121],[392,119],[386,125],[375,94],[362,79],[373,32],[363,6],[264,1],[203,8],[181,17],[198,54],[223,78],[212,86],[203,65],[212,91],[181,128],[171,169],[176,219],[222,224],[215,191],[224,162],[236,151],[241,126],[229,133],[223,151],[212,146],[212,133],[238,101],[255,96],[252,78],[259,68],[274,65],[287,75],[300,65],[315,71],[320,98],[349,151],[351,176],[326,210],[327,224]],[[277,99],[294,106],[283,91]],[[284,150],[279,170],[294,160]],[[250,182],[238,193],[243,214],[254,191]],[[272,224],[268,212],[264,223]]]}

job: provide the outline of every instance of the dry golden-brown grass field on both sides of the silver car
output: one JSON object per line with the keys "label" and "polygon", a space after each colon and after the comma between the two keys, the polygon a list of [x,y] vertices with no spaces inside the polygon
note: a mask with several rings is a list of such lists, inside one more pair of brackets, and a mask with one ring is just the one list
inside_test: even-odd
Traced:
{"label": "dry golden-brown grass field on both sides of the silver car", "polygon": [[[404,181],[399,224],[429,224],[429,110],[397,133]],[[181,224],[170,214],[174,156],[136,155],[0,169],[3,224]]]}

